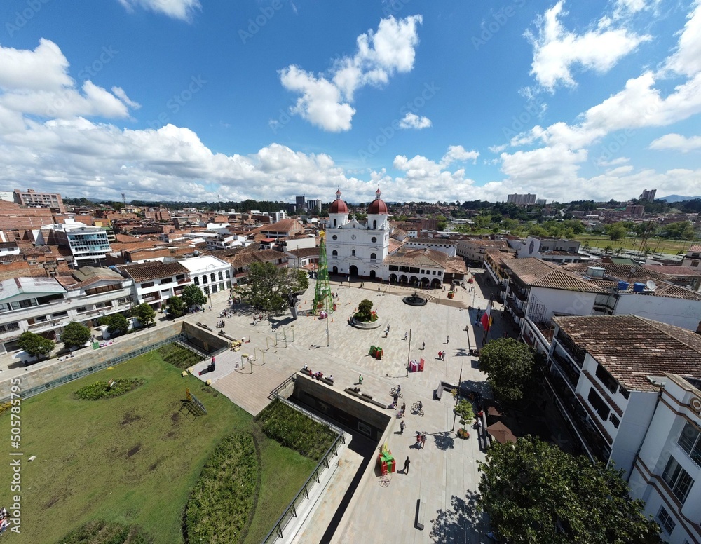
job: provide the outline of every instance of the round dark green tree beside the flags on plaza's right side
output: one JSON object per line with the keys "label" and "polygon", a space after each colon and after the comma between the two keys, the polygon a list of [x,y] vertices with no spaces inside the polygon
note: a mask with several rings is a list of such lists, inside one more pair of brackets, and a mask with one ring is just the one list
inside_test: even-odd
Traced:
{"label": "round dark green tree beside the flags on plaza's right side", "polygon": [[522,399],[524,391],[532,390],[540,359],[530,346],[512,338],[500,338],[482,348],[479,368],[489,374],[487,381],[494,393],[505,402],[513,402]]}

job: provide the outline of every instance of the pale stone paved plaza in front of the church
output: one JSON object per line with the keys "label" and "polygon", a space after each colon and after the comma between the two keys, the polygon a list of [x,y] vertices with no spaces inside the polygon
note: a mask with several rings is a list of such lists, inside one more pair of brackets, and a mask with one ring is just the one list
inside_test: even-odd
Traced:
{"label": "pale stone paved plaza in front of the church", "polygon": [[[397,471],[402,470],[404,459],[409,456],[409,474],[395,472],[388,483],[381,483],[373,459],[330,541],[489,542],[488,529],[482,524],[471,498],[479,482],[477,461],[484,460],[484,451],[472,430],[468,440],[461,440],[450,432],[459,427],[459,422],[454,423],[451,395],[445,393],[440,401],[433,398],[441,380],[458,383],[460,376],[468,388],[486,391],[485,376],[477,369],[477,360],[470,357],[469,348],[476,345],[475,333],[477,341],[482,341],[483,330],[473,325],[477,308],[484,311],[488,304],[489,287],[483,291],[484,284],[479,280],[474,284],[474,292],[460,289],[452,300],[441,290],[418,290],[419,294],[426,294],[430,302],[423,307],[413,307],[402,302],[403,296],[414,292],[409,288],[379,286],[369,281],[360,288],[360,282],[340,285],[332,281],[332,290],[338,293],[336,312],[328,320],[318,320],[303,315],[311,310],[314,285],[311,280],[309,289],[299,299],[297,320],[283,315],[254,325],[254,314],[243,307],[238,308],[232,318],[224,319],[226,334],[243,338],[246,343],[238,352],[229,350],[217,355],[215,372],[203,374],[201,379],[210,379],[213,388],[250,414],[260,412],[270,402],[271,390],[304,365],[327,376],[332,374],[333,388],[341,394],[343,389],[354,386],[358,375],[362,374],[361,390],[387,404],[391,402],[390,388],[400,384],[404,395],[400,404],[407,403],[406,430],[400,434],[401,420],[393,417],[385,436],[397,460]],[[372,301],[381,327],[361,330],[348,325],[347,318],[362,299]],[[185,319],[203,322],[217,332],[219,313],[230,307],[228,293],[217,293],[212,295],[212,311]],[[501,306],[495,307],[501,310]],[[496,315],[501,315],[501,311]],[[384,338],[386,325],[390,325],[390,332]],[[405,334],[407,339],[404,339]],[[502,321],[497,317],[489,338],[502,334]],[[129,341],[129,336],[116,339],[116,342],[121,341]],[[381,360],[369,356],[372,345],[383,349]],[[438,351],[447,353],[445,360],[438,360]],[[424,372],[407,374],[407,362],[421,358],[425,361]],[[12,362],[9,355],[0,361],[4,369],[0,374],[2,379],[25,372],[19,367],[8,369],[8,362]],[[195,370],[203,369],[208,362],[200,363]],[[50,363],[41,363],[46,364]],[[418,400],[423,402],[423,417],[409,411],[411,404]],[[396,411],[386,410],[386,413],[394,415]],[[425,449],[416,447],[417,431],[428,433]],[[334,481],[297,535],[298,542],[306,544],[329,538],[328,534],[323,537],[327,524],[361,463],[362,458],[353,451],[343,452]],[[426,503],[423,531],[414,525],[419,498]]]}

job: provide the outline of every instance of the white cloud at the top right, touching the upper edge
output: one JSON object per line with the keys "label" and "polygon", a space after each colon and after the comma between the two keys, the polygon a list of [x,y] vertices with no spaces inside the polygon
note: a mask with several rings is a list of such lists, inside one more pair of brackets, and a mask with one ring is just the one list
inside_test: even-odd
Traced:
{"label": "white cloud at the top right, touching the upper edge", "polygon": [[571,69],[578,64],[584,69],[605,73],[625,55],[651,36],[636,34],[625,27],[611,27],[611,20],[601,18],[597,27],[584,34],[564,29],[559,17],[564,0],[560,0],[537,21],[538,35],[526,32],[533,44],[531,74],[541,86],[553,90],[559,83],[575,86]]}

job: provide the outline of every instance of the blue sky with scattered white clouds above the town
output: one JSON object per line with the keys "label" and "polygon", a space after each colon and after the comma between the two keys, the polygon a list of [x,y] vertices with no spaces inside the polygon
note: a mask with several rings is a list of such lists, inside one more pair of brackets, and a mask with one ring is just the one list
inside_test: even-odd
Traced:
{"label": "blue sky with scattered white clouds above the town", "polygon": [[0,189],[701,194],[700,0],[6,0]]}

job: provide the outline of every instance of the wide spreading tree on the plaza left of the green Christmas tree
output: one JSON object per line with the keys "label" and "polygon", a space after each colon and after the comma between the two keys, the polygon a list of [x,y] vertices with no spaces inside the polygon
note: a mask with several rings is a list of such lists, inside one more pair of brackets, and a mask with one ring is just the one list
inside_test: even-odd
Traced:
{"label": "wide spreading tree on the plaza left of the green Christmas tree", "polygon": [[236,292],[248,304],[265,312],[279,312],[294,302],[294,295],[309,287],[306,271],[280,268],[273,263],[252,263],[248,268],[245,285]]}

